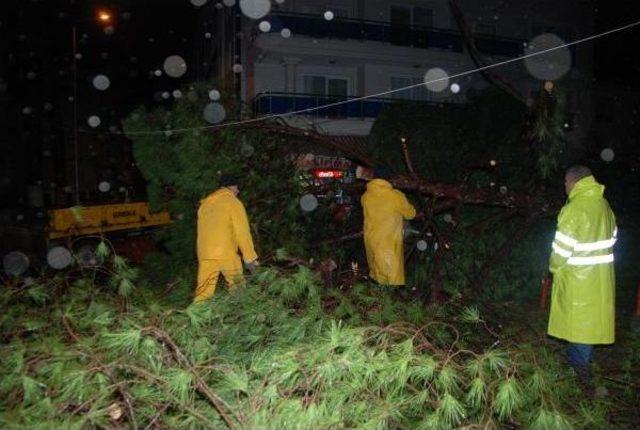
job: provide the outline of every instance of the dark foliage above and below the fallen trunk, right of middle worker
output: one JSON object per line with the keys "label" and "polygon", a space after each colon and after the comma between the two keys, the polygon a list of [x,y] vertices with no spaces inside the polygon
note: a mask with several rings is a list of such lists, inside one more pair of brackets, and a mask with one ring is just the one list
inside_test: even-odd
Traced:
{"label": "dark foliage above and below the fallen trunk, right of middle worker", "polygon": [[[396,173],[407,169],[400,150],[404,139],[415,173],[427,181],[537,195],[557,179],[562,165],[562,100],[557,91],[542,90],[528,109],[490,89],[472,95],[464,105],[398,104],[376,122],[370,147]],[[431,199],[414,202],[431,213]],[[443,288],[450,294],[481,289],[486,297],[502,300],[537,294],[553,217],[534,221],[527,218],[530,213],[483,205],[454,206],[433,215],[430,225],[414,225],[416,234],[406,241],[412,285],[423,291]],[[413,248],[422,238],[430,246],[417,252]]]}

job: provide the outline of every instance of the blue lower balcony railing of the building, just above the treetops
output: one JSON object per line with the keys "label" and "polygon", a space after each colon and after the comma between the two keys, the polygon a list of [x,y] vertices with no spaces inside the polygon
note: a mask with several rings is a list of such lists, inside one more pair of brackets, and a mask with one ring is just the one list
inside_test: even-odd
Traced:
{"label": "blue lower balcony railing of the building, just above the treetops", "polygon": [[[446,102],[414,101],[388,98],[354,100],[357,97],[319,96],[301,93],[261,93],[253,99],[256,115],[277,115],[305,109],[315,109],[305,115],[317,118],[364,119],[377,118],[385,106],[394,103],[408,103],[438,106]],[[317,109],[332,103],[353,100],[349,103]]]}

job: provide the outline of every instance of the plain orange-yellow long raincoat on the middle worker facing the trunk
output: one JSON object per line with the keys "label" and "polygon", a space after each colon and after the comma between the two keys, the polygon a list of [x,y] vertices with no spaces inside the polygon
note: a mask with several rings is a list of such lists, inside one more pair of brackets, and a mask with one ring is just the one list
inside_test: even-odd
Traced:
{"label": "plain orange-yellow long raincoat on the middle worker facing the trunk", "polygon": [[369,275],[383,285],[404,285],[403,221],[416,216],[415,208],[384,179],[370,181],[361,202]]}

